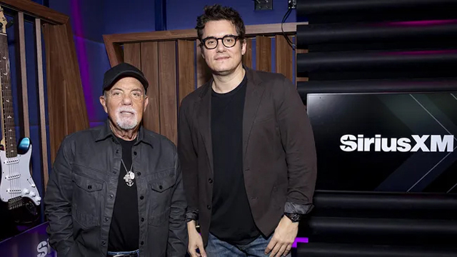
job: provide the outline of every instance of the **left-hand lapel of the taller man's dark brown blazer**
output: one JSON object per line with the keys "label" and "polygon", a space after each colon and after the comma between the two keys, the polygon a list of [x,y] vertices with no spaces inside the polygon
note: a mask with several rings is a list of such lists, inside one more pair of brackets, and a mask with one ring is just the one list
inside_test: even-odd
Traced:
{"label": "left-hand lapel of the taller man's dark brown blazer", "polygon": [[201,101],[198,112],[199,119],[199,131],[204,141],[206,148],[206,154],[208,155],[209,166],[211,168],[211,173],[214,173],[213,170],[213,144],[211,141],[211,90],[210,86],[212,79],[205,84],[206,90],[201,94]]}

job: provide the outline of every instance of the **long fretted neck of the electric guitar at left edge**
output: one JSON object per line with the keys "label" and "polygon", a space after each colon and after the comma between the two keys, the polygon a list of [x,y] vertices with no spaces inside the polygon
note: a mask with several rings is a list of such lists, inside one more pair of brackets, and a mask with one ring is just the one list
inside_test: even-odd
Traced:
{"label": "long fretted neck of the electric guitar at left edge", "polygon": [[13,94],[11,91],[11,70],[9,66],[8,38],[0,34],[0,84],[2,129],[6,157],[16,157],[16,128],[14,125]]}

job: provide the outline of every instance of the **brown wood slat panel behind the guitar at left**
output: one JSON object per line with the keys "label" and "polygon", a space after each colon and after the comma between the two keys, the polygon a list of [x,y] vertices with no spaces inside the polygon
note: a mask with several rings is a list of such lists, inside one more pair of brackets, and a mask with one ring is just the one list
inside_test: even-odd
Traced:
{"label": "brown wood slat panel behind the guitar at left", "polygon": [[[16,51],[19,58],[16,60],[19,71],[19,92],[21,94],[21,136],[30,136],[29,133],[29,96],[26,87],[26,58],[24,16],[34,18],[34,34],[37,66],[37,82],[39,96],[39,129],[41,144],[41,163],[43,171],[44,190],[48,180],[49,166],[47,163],[47,137],[50,141],[51,162],[56,158],[57,150],[65,136],[82,129],[89,128],[86,112],[78,59],[74,45],[73,32],[69,16],[30,0],[0,0],[1,6],[6,6],[15,14]],[[42,26],[43,25],[43,26]],[[42,33],[42,34],[41,34]],[[45,85],[43,74],[43,59],[41,35],[46,48],[46,91],[48,93],[48,109],[45,102]],[[116,49],[111,46],[111,49]],[[119,54],[119,49],[117,54]],[[114,51],[116,54],[116,51]],[[119,57],[116,56],[116,57]],[[49,135],[46,134],[46,113],[49,115]],[[38,146],[35,143],[35,146]]]}

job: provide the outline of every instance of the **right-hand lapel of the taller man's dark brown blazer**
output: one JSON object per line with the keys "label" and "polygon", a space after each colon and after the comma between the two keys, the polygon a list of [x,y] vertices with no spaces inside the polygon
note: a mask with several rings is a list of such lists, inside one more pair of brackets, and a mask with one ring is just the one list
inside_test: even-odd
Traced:
{"label": "right-hand lapel of the taller man's dark brown blazer", "polygon": [[263,86],[257,77],[255,71],[246,68],[246,76],[248,76],[248,83],[246,84],[246,99],[244,100],[243,111],[243,160],[246,158],[246,151],[248,149],[249,136],[253,122],[256,119],[258,106],[263,96]]}

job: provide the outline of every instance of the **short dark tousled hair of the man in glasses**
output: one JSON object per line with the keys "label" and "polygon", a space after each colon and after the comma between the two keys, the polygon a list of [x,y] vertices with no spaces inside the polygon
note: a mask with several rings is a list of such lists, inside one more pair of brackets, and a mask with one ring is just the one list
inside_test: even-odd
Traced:
{"label": "short dark tousled hair of the man in glasses", "polygon": [[203,37],[203,29],[208,21],[230,21],[236,27],[236,33],[238,39],[243,40],[246,36],[246,27],[244,26],[241,15],[235,9],[228,6],[221,6],[220,4],[214,4],[212,6],[205,6],[204,14],[197,17],[197,36],[200,41]]}

